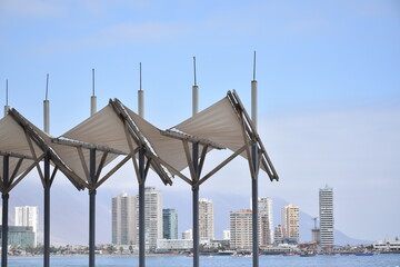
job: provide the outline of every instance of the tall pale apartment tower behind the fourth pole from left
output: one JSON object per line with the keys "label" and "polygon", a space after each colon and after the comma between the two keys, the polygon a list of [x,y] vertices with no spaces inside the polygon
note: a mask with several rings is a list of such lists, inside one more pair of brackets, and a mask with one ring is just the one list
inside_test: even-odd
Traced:
{"label": "tall pale apartment tower behind the fourth pole from left", "polygon": [[[136,225],[139,229],[139,195],[137,196]],[[144,188],[144,239],[147,250],[154,250],[157,240],[162,239],[162,195],[156,187]],[[137,235],[139,244],[139,235]]]}

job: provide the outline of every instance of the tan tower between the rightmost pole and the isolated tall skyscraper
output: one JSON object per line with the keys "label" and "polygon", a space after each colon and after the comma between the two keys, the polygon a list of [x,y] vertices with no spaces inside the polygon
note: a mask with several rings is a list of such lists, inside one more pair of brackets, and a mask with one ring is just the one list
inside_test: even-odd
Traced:
{"label": "tan tower between the rightmost pole and the isolated tall skyscraper", "polygon": [[292,205],[282,208],[283,238],[294,238],[299,241],[299,208]]}

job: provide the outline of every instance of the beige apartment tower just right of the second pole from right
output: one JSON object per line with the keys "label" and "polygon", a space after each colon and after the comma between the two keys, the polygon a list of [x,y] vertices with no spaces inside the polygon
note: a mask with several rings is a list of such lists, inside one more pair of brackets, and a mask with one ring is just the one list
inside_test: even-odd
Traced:
{"label": "beige apartment tower just right of the second pole from right", "polygon": [[200,240],[214,239],[213,204],[207,198],[199,199]]}

